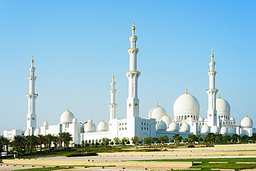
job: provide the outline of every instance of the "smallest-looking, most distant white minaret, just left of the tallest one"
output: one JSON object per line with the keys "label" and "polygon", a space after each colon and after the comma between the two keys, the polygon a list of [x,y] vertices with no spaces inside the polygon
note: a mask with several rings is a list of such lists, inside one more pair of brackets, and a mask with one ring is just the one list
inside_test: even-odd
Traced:
{"label": "smallest-looking, most distant white minaret, just left of the tallest one", "polygon": [[112,74],[112,81],[111,81],[111,89],[109,90],[110,92],[110,103],[109,103],[109,108],[110,108],[110,117],[109,119],[116,119],[116,106],[118,104],[116,103],[116,82],[114,81],[115,77]]}

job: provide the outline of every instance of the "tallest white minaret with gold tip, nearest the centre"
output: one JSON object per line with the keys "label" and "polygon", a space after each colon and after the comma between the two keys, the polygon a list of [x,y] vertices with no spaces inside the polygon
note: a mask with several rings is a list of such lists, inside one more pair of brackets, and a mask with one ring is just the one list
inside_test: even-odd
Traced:
{"label": "tallest white minaret with gold tip, nearest the centre", "polygon": [[129,80],[129,96],[127,99],[127,118],[129,117],[139,117],[139,99],[138,99],[138,77],[140,76],[140,71],[137,70],[137,54],[138,48],[136,48],[137,37],[134,35],[136,28],[133,26],[131,28],[131,37],[129,40],[131,42],[131,48],[128,49],[129,52],[129,71],[126,72],[126,76]]}

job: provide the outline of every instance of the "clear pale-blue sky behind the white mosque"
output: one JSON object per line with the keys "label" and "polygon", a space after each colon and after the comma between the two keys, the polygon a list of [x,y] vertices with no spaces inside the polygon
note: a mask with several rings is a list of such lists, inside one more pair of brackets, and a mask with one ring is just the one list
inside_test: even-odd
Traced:
{"label": "clear pale-blue sky behind the white mosque", "polygon": [[173,119],[188,92],[208,110],[208,62],[214,49],[216,88],[237,123],[256,124],[256,1],[0,1],[0,134],[26,129],[28,75],[34,55],[37,125],[109,121],[111,74],[117,117],[126,117],[129,36],[138,36],[140,117],[159,102]]}

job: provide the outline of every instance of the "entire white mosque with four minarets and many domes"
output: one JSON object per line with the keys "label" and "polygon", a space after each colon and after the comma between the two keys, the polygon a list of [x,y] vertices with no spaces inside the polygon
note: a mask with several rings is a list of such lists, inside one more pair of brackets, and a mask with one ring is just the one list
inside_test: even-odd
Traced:
{"label": "entire white mosque with four minarets and many domes", "polygon": [[140,71],[137,69],[137,55],[139,49],[136,48],[137,36],[135,35],[136,28],[131,28],[131,37],[129,37],[130,48],[129,53],[129,71],[126,72],[129,80],[128,99],[127,99],[127,117],[125,119],[118,119],[116,116],[116,82],[112,76],[110,103],[109,103],[109,123],[101,121],[97,125],[89,119],[86,123],[80,123],[75,118],[75,115],[68,109],[62,113],[60,123],[57,125],[48,125],[45,121],[39,128],[37,127],[37,115],[35,113],[35,101],[38,94],[35,93],[35,67],[34,60],[31,61],[29,80],[29,92],[26,94],[28,98],[28,114],[26,117],[26,130],[4,130],[3,136],[13,138],[16,134],[20,135],[38,135],[38,134],[58,134],[60,132],[70,132],[73,136],[73,143],[96,143],[100,142],[102,138],[106,137],[113,140],[115,137],[122,139],[122,137],[138,136],[140,139],[145,137],[161,137],[167,135],[172,138],[174,134],[180,134],[183,138],[188,137],[189,134],[206,135],[209,132],[214,134],[239,134],[251,136],[256,129],[253,128],[253,121],[246,116],[241,120],[241,123],[236,123],[233,117],[230,117],[230,105],[228,101],[220,97],[217,98],[215,88],[214,70],[214,54],[210,55],[210,71],[209,88],[206,90],[208,94],[208,112],[207,117],[199,117],[199,101],[185,90],[174,103],[174,116],[171,118],[167,116],[165,110],[158,104],[149,111],[148,118],[141,118],[139,114],[140,101],[138,99],[138,78]]}

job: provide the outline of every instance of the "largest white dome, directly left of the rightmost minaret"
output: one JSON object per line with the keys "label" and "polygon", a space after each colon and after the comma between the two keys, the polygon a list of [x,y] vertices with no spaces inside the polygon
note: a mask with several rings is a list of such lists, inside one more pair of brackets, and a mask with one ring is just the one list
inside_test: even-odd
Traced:
{"label": "largest white dome, directly left of the rightmost minaret", "polygon": [[174,103],[174,115],[199,114],[199,101],[191,94],[182,94]]}

